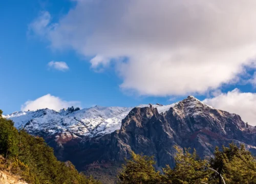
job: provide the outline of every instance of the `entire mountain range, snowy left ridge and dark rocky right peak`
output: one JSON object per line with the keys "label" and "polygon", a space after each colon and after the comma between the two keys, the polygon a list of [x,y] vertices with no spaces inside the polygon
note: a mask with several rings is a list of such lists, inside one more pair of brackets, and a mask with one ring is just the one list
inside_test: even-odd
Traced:
{"label": "entire mountain range, snowy left ridge and dark rocky right peak", "polygon": [[216,146],[231,142],[256,153],[256,127],[193,96],[170,105],[39,109],[5,118],[43,137],[59,160],[70,160],[79,171],[105,183],[116,178],[131,151],[154,155],[158,170],[174,166],[175,145],[195,148],[200,157],[212,157]]}

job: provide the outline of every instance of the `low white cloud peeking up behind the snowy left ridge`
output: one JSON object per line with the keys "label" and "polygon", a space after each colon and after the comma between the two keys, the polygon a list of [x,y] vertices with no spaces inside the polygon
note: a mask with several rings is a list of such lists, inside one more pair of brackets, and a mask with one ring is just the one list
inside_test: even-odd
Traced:
{"label": "low white cloud peeking up behind the snowy left ridge", "polygon": [[81,107],[81,103],[79,101],[65,101],[60,99],[59,97],[47,94],[38,99],[25,102],[22,105],[21,110],[37,110],[42,108],[60,110],[62,108],[68,108],[71,106]]}

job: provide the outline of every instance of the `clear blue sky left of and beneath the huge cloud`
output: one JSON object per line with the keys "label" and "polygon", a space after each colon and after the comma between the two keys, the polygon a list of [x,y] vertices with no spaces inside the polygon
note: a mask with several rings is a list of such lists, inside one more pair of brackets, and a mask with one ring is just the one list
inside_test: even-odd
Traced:
{"label": "clear blue sky left of and beneath the huge cloud", "polygon": [[[28,25],[42,10],[56,16],[66,13],[74,2],[2,1],[0,16],[0,104],[5,113],[20,110],[27,100],[46,94],[67,101],[81,101],[82,107],[135,106],[142,103],[169,103],[169,98],[134,97],[122,93],[113,71],[96,73],[90,63],[74,51],[52,51],[47,41],[27,35]],[[70,70],[49,70],[50,61],[64,61]]]}

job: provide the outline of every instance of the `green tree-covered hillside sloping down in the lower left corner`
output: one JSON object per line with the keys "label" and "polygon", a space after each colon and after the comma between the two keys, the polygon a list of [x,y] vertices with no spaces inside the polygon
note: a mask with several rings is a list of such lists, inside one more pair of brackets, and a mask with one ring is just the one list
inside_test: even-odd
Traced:
{"label": "green tree-covered hillside sloping down in the lower left corner", "polygon": [[2,110],[0,155],[0,169],[21,176],[28,183],[100,183],[78,173],[70,162],[59,162],[44,139],[29,135],[24,130],[17,130],[12,121],[2,118]]}

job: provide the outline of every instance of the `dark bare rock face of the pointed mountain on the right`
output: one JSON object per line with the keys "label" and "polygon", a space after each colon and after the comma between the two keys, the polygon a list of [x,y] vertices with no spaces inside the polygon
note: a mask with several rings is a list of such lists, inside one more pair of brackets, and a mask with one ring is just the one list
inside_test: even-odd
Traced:
{"label": "dark bare rock face of the pointed mountain on the right", "polygon": [[174,145],[196,148],[201,157],[212,156],[216,146],[245,143],[255,153],[256,129],[237,114],[212,108],[189,96],[164,113],[157,108],[134,108],[121,129],[100,138],[84,140],[66,159],[78,169],[94,162],[123,162],[131,150],[155,155],[157,167],[174,166]]}

